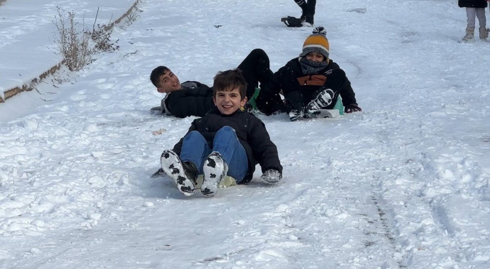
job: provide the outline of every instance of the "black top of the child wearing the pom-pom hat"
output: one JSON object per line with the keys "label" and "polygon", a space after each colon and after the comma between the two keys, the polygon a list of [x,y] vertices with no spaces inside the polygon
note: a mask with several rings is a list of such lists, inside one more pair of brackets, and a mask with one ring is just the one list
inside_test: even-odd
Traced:
{"label": "black top of the child wearing the pom-pom hat", "polygon": [[274,73],[266,86],[261,87],[260,94],[267,96],[282,90],[290,108],[299,110],[304,108],[315,97],[314,93],[322,87],[334,91],[334,99],[332,104],[326,107],[327,109],[335,106],[339,95],[342,97],[344,107],[357,103],[345,72],[332,60],[318,74],[305,75],[301,70],[299,59],[294,58]]}

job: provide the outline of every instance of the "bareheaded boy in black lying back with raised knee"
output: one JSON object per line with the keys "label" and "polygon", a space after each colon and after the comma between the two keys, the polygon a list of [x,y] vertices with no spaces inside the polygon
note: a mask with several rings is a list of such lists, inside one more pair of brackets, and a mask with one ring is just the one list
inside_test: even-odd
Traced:
{"label": "bareheaded boy in black lying back with raised knee", "polygon": [[[243,71],[247,83],[246,97],[248,99],[253,96],[259,82],[263,84],[272,76],[269,57],[262,49],[252,50],[238,69]],[[165,98],[161,101],[161,106],[152,108],[151,112],[174,115],[179,118],[202,117],[215,107],[213,88],[196,81],[186,81],[180,84],[178,77],[168,67],[160,66],[153,69],[150,80],[158,92],[166,93]]]}

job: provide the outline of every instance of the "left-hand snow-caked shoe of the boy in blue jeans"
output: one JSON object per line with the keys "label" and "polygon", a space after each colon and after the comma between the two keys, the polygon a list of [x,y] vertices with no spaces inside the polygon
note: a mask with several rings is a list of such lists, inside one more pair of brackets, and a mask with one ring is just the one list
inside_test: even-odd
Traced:
{"label": "left-hand snow-caked shoe of the boy in blue jeans", "polygon": [[162,170],[175,181],[177,189],[185,196],[196,193],[197,169],[190,162],[182,162],[175,152],[166,150],[160,158]]}

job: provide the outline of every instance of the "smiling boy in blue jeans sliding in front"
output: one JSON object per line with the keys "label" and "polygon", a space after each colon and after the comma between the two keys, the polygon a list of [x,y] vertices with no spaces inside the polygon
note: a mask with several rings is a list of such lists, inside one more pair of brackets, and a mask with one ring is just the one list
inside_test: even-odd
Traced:
{"label": "smiling boy in blue jeans sliding in front", "polygon": [[194,120],[173,150],[162,153],[162,170],[185,196],[196,192],[198,174],[203,174],[201,193],[208,197],[216,195],[226,175],[239,184],[247,183],[257,162],[262,167],[261,179],[275,183],[282,178],[277,147],[264,123],[240,110],[247,101],[246,90],[241,70],[218,73],[213,85],[216,107]]}

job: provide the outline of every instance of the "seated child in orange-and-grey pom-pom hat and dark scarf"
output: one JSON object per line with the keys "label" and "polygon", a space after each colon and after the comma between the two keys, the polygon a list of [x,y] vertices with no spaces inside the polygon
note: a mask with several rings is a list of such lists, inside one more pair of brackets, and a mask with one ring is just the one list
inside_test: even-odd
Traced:
{"label": "seated child in orange-and-grey pom-pom hat and dark scarf", "polygon": [[345,72],[328,58],[329,44],[325,35],[323,27],[316,27],[305,40],[299,57],[281,67],[261,87],[256,100],[259,108],[282,90],[291,121],[308,118],[319,109],[332,109],[339,95],[344,112],[361,111]]}

